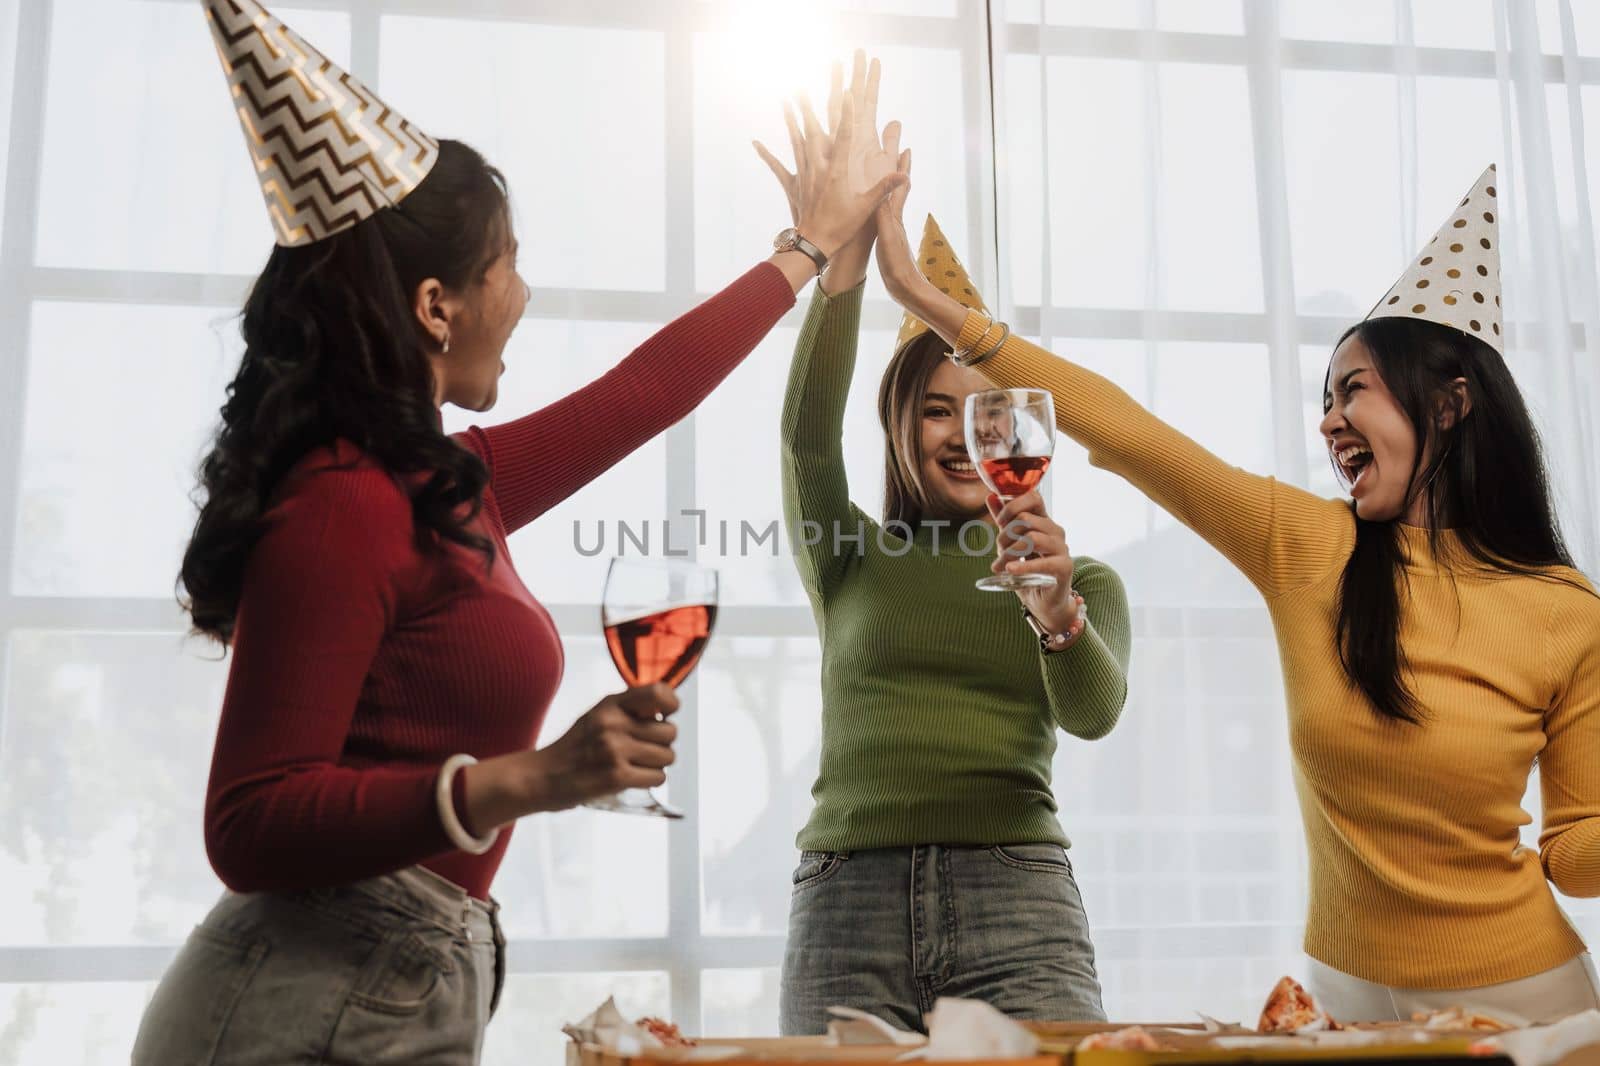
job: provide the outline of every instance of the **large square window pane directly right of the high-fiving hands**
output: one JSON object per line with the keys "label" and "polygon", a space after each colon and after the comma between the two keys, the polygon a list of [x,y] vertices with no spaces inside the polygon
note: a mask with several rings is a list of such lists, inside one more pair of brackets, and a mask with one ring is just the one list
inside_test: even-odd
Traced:
{"label": "large square window pane directly right of the high-fiving hands", "polygon": [[[1016,301],[1038,303],[1048,195],[1056,306],[1259,311],[1245,72],[1163,64],[1154,99],[1147,67],[1136,62],[1053,58],[1048,77],[1046,118],[1038,59],[1006,61]],[[1042,126],[1050,130],[1048,189]],[[1152,136],[1162,168],[1154,189]]]}

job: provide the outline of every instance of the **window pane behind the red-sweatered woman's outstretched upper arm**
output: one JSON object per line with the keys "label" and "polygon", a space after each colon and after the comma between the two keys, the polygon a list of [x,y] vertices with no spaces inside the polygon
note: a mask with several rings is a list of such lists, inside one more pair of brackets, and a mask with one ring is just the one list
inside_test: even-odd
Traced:
{"label": "window pane behind the red-sweatered woman's outstretched upper arm", "polygon": [[[448,407],[445,429],[498,426],[530,415],[602,376],[659,328],[645,322],[525,319],[506,346],[506,373],[494,410]],[[637,418],[629,411],[608,416]],[[504,474],[514,475],[512,471]],[[634,536],[648,536],[651,551],[659,552],[666,517],[667,451],[658,435],[514,533],[512,560],[541,600],[598,605],[605,568],[618,554],[622,527]],[[630,551],[632,544],[629,541]]]}

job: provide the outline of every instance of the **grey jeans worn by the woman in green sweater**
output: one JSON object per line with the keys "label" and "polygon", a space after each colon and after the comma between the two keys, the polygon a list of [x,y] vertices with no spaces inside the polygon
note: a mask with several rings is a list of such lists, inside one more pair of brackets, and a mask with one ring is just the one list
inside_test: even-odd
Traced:
{"label": "grey jeans worn by the woman in green sweater", "polygon": [[802,852],[779,992],[784,1036],[829,1007],[925,1031],[939,996],[1014,1018],[1104,1021],[1094,946],[1054,844]]}

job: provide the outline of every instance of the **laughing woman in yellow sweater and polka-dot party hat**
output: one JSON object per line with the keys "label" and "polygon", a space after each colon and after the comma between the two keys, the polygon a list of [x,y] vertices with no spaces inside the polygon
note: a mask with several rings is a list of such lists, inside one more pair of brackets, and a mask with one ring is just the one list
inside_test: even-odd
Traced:
{"label": "laughing woman in yellow sweater and polka-dot party hat", "polygon": [[[962,307],[917,272],[902,203],[878,218],[890,293],[997,386],[1050,389],[1094,466],[1266,597],[1323,1007],[1536,1021],[1600,1004],[1550,890],[1600,895],[1600,597],[1562,544],[1502,359],[1494,170],[1333,354],[1320,432],[1354,503],[1229,466],[1110,381]],[[1518,842],[1534,759],[1538,852]]]}

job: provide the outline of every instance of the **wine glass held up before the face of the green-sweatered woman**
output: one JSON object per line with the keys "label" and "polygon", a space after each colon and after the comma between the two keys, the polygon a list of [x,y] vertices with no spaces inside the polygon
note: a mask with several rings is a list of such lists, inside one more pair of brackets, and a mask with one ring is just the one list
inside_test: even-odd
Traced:
{"label": "wine glass held up before the face of the green-sweatered woman", "polygon": [[[1002,503],[1029,491],[1056,450],[1056,402],[1043,389],[987,389],[966,397],[966,455]],[[1043,589],[1048,573],[998,573],[978,581],[986,592]]]}

